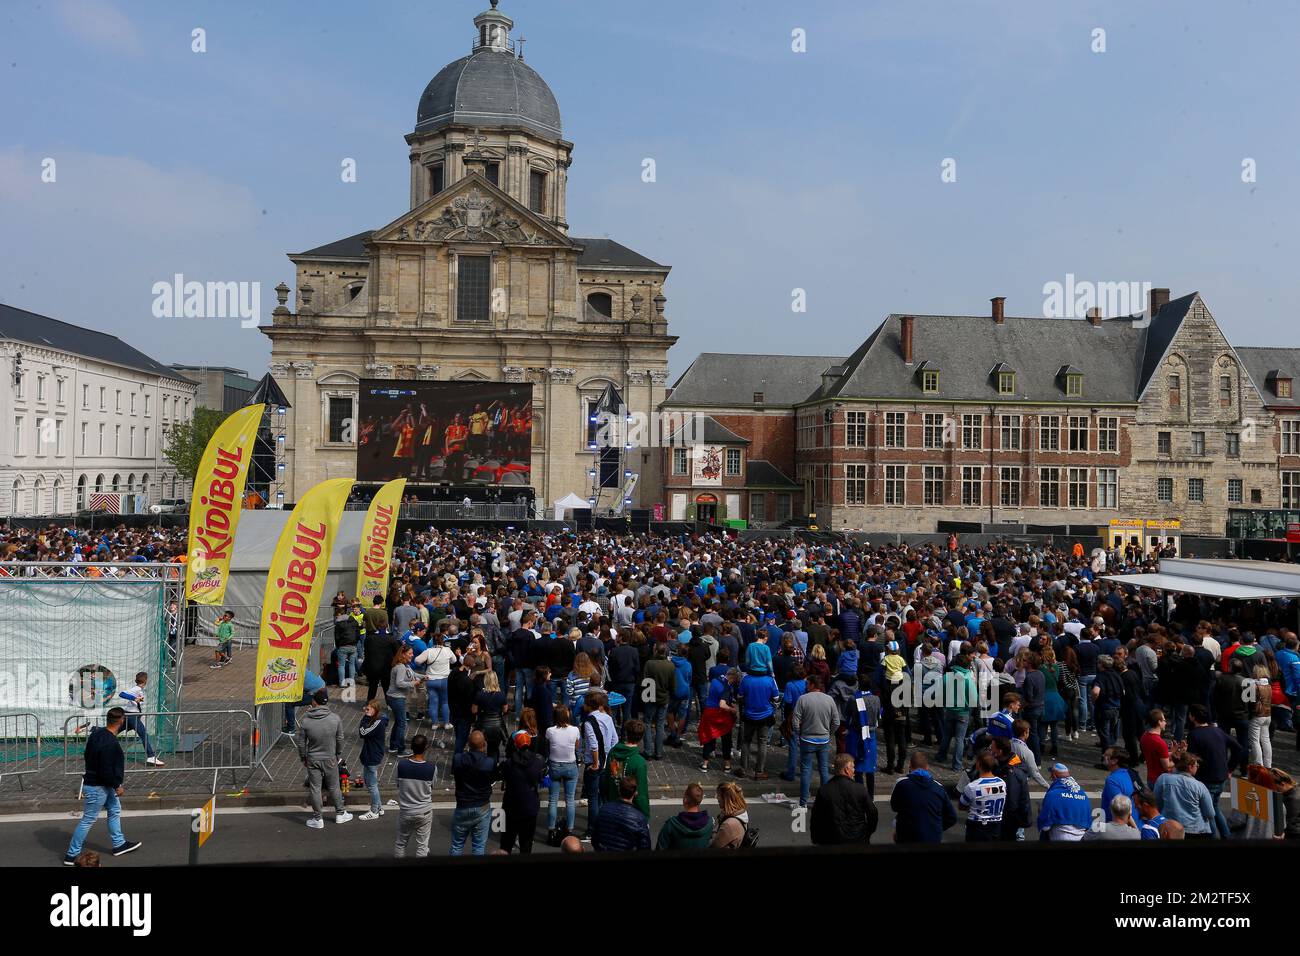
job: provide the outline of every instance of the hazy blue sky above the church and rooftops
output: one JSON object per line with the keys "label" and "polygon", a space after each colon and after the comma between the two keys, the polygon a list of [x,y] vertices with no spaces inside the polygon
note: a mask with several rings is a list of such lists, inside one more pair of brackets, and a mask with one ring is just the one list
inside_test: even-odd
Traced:
{"label": "hazy blue sky above the church and rooftops", "polygon": [[[484,7],[6,0],[0,302],[260,375],[265,336],[155,319],[152,284],[256,280],[269,313],[285,252],[404,212],[403,135]],[[673,267],[675,373],[706,350],[846,354],[889,312],[980,313],[992,295],[1037,315],[1067,273],[1200,290],[1234,343],[1300,345],[1297,7],[502,9],[576,144],[572,234]]]}

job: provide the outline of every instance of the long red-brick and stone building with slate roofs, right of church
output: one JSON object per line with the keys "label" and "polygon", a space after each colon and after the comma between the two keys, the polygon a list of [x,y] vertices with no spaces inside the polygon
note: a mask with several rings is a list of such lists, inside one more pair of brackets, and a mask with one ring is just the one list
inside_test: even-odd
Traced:
{"label": "long red-brick and stone building with slate roofs, right of church", "polygon": [[[666,406],[779,460],[822,527],[1092,525],[1149,545],[1223,535],[1230,507],[1300,507],[1300,350],[1234,349],[1197,293],[1080,320],[994,298],[985,315],[890,315],[846,359],[706,358]],[[746,375],[766,392],[784,368],[780,408],[734,407]],[[790,433],[792,457],[768,451]]]}

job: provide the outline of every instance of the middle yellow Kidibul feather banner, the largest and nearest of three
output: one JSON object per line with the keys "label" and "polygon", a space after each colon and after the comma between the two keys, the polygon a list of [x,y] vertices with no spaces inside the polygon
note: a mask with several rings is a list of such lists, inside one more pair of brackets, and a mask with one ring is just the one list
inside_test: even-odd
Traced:
{"label": "middle yellow Kidibul feather banner, the largest and nearest of three", "polygon": [[261,601],[255,704],[302,700],[316,610],[325,591],[338,520],[351,490],[352,479],[321,481],[302,497],[280,532]]}

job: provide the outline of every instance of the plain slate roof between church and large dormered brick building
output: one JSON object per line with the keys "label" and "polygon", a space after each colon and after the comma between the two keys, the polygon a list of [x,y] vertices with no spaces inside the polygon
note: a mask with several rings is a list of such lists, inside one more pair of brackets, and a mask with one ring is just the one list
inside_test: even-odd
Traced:
{"label": "plain slate roof between church and large dormered brick building", "polygon": [[844,363],[840,355],[742,355],[702,352],[672,386],[666,406],[783,407],[802,402],[820,386],[822,372]]}

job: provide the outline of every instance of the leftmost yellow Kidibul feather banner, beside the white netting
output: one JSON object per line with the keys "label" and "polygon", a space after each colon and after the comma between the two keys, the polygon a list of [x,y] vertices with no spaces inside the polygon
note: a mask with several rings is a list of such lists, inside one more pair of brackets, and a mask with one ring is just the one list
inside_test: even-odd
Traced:
{"label": "leftmost yellow Kidibul feather banner, beside the white netting", "polygon": [[199,459],[185,568],[185,596],[195,604],[216,605],[226,596],[244,479],[265,408],[250,405],[234,412],[212,433]]}

